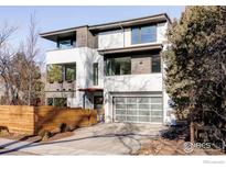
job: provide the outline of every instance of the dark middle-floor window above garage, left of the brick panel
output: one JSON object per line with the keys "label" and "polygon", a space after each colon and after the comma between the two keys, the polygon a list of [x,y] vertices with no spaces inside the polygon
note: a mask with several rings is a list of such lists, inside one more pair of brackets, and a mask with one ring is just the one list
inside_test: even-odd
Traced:
{"label": "dark middle-floor window above garage, left of the brick panel", "polygon": [[107,58],[106,64],[108,76],[131,74],[131,57]]}

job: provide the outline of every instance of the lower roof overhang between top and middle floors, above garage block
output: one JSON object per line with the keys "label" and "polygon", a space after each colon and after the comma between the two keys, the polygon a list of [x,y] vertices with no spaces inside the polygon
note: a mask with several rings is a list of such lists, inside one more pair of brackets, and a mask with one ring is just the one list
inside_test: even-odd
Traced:
{"label": "lower roof overhang between top and middle floors, above garage block", "polygon": [[162,47],[163,47],[162,44],[152,44],[152,45],[142,45],[142,46],[99,49],[98,52],[100,55],[108,55],[108,54],[123,54],[123,53],[131,53],[131,52],[161,50]]}

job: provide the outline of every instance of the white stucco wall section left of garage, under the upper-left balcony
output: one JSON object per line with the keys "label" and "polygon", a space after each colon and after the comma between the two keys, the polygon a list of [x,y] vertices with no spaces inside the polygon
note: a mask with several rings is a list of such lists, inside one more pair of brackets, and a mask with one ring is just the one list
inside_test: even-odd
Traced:
{"label": "white stucco wall section left of garage, under the upper-left balcony", "polygon": [[[76,63],[76,97],[67,98],[67,105],[72,108],[83,106],[84,92],[78,91],[85,88],[104,88],[104,58],[96,49],[88,47],[56,49],[46,53],[46,65]],[[93,84],[93,64],[98,63],[98,86]],[[85,100],[86,108],[94,105],[88,99]]]}

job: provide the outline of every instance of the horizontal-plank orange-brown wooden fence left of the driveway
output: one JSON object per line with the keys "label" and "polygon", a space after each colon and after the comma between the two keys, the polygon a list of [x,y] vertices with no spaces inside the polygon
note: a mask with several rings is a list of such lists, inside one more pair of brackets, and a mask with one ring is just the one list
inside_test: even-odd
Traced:
{"label": "horizontal-plank orange-brown wooden fence left of the driveway", "polygon": [[0,126],[10,133],[39,134],[41,131],[69,129],[97,123],[95,110],[54,106],[0,105]]}

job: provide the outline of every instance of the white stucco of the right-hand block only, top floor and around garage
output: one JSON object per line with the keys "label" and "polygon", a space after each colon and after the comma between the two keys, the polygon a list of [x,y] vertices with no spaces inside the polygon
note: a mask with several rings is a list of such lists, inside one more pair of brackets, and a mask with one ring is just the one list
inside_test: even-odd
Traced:
{"label": "white stucco of the right-hand block only, top floor and around garage", "polygon": [[[131,29],[120,29],[117,31],[109,31],[98,34],[98,48],[122,48],[141,45],[162,44],[163,50],[166,49],[166,29],[169,23],[157,24],[157,42],[146,44],[131,44]],[[164,64],[162,63],[162,67]],[[154,95],[159,94],[163,100],[163,123],[170,124],[169,95],[166,94],[164,87],[164,70],[160,74],[148,74],[148,75],[128,75],[128,76],[109,76],[104,78],[104,97],[105,97],[105,115],[106,122],[112,122],[114,120],[114,108],[112,97],[119,93],[123,95]]]}

